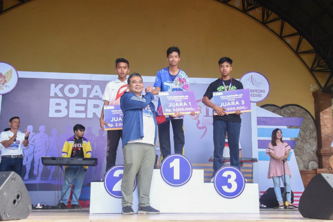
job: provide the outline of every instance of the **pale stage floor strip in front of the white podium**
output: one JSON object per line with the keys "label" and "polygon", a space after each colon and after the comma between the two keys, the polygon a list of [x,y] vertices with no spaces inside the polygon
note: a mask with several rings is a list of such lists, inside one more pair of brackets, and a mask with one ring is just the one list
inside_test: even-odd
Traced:
{"label": "pale stage floor strip in front of the white podium", "polygon": [[[18,221],[18,220],[12,220]],[[190,222],[190,221],[327,221],[320,219],[308,219],[302,217],[297,209],[261,209],[259,214],[228,214],[228,213],[162,213],[155,215],[122,215],[122,214],[89,214],[89,208],[67,210],[33,210],[26,219],[19,221],[56,221],[56,222],[109,222],[109,221],[132,221],[132,222]]]}

